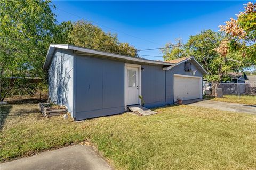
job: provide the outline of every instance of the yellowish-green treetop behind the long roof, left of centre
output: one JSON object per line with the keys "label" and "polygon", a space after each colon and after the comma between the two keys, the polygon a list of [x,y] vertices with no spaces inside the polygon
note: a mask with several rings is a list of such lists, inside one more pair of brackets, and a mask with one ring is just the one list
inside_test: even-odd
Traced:
{"label": "yellowish-green treetop behind the long roof, left of centre", "polygon": [[129,43],[120,43],[117,35],[105,33],[101,28],[90,22],[79,20],[73,23],[73,30],[69,34],[70,43],[77,46],[103,50],[135,57],[137,50]]}

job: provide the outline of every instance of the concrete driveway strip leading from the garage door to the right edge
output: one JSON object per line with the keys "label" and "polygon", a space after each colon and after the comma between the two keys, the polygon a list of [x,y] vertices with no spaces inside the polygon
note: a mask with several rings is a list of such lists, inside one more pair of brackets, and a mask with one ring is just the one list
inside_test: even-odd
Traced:
{"label": "concrete driveway strip leading from the garage door to the right edge", "polygon": [[195,103],[190,103],[187,105],[214,108],[222,111],[233,111],[233,112],[256,114],[256,105],[227,103],[227,102],[212,101],[212,100],[203,100]]}

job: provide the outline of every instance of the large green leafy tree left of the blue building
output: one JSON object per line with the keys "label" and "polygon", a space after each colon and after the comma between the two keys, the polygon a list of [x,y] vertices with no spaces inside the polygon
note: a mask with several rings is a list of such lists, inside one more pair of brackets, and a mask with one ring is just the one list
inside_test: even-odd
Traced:
{"label": "large green leafy tree left of the blue building", "polygon": [[[65,43],[71,23],[57,23],[50,1],[0,0],[0,100],[30,91],[26,75],[42,76],[50,43]],[[53,6],[55,7],[55,6]],[[10,77],[13,81],[10,82]]]}

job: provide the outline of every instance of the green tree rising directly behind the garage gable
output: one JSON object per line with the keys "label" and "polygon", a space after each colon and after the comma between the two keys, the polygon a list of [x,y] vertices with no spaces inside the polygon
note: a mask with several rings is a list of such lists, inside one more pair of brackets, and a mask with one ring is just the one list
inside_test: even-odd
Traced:
{"label": "green tree rising directly behind the garage gable", "polygon": [[[166,47],[172,45],[171,48],[163,49],[164,60],[172,60],[175,58],[194,56],[196,60],[204,66],[209,73],[209,78],[214,81],[220,81],[218,71],[215,64],[216,58],[219,57],[215,48],[221,42],[222,36],[218,32],[212,30],[203,30],[198,35],[190,36],[186,44],[180,43],[177,39],[177,44],[166,43]],[[178,46],[178,47],[177,47]],[[181,47],[179,47],[181,46]]]}

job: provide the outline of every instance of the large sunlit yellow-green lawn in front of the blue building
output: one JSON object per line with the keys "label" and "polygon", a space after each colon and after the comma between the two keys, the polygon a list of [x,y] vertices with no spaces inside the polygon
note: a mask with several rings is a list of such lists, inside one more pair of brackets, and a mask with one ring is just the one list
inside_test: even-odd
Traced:
{"label": "large sunlit yellow-green lawn in front of the blue building", "polygon": [[2,162],[89,140],[115,169],[256,167],[256,115],[180,105],[78,123],[43,118],[37,104],[0,107]]}

